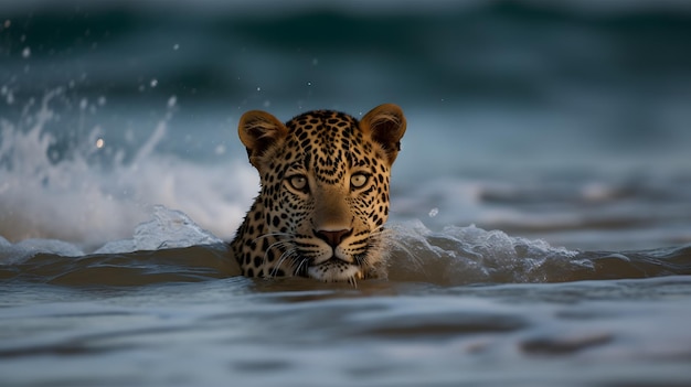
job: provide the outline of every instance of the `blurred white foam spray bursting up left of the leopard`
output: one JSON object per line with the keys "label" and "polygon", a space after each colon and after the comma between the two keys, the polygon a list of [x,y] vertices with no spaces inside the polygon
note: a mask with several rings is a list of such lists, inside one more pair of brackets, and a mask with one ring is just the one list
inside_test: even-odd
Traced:
{"label": "blurred white foam spray bursting up left of the leopard", "polygon": [[[53,161],[56,140],[45,127],[59,121],[51,100],[61,93],[49,93],[19,122],[0,120],[0,236],[14,243],[60,239],[89,252],[131,236],[158,204],[183,211],[222,238],[233,235],[258,191],[247,163],[209,165],[158,152],[170,114],[127,162],[108,142],[97,146],[98,126],[76,139],[67,157]],[[95,152],[106,152],[109,163],[94,163]]]}

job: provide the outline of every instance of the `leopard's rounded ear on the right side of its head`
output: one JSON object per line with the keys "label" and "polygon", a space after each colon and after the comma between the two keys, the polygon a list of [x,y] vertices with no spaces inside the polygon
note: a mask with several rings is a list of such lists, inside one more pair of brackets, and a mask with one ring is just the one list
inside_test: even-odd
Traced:
{"label": "leopard's rounded ear on the right side of its head", "polygon": [[405,133],[405,116],[401,108],[393,104],[380,105],[362,117],[360,128],[382,146],[389,164],[393,164],[401,150],[401,138]]}

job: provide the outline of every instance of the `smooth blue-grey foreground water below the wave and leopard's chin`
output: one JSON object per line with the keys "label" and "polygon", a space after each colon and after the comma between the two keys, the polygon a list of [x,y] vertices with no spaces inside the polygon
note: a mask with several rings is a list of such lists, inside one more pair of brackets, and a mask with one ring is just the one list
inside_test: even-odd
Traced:
{"label": "smooth blue-grey foreground water below the wave and leopard's chin", "polygon": [[298,290],[304,280],[240,277],[13,286],[0,288],[3,385],[691,380],[689,277],[312,290]]}

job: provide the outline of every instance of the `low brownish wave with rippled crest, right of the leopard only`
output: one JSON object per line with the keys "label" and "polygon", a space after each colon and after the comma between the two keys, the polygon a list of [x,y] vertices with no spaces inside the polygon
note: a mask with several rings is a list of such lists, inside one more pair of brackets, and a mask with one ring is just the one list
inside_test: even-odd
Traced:
{"label": "low brownish wave with rippled crest, right of the leopard only", "polygon": [[389,278],[440,286],[543,283],[691,275],[691,245],[637,251],[580,251],[501,230],[422,222],[394,225]]}

